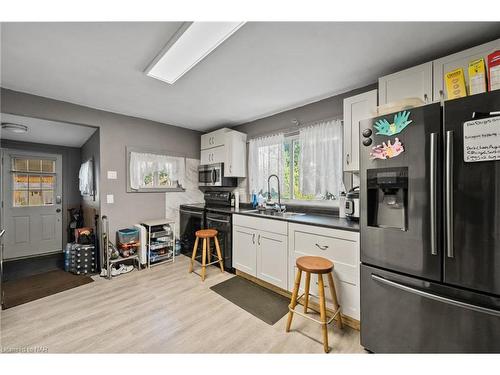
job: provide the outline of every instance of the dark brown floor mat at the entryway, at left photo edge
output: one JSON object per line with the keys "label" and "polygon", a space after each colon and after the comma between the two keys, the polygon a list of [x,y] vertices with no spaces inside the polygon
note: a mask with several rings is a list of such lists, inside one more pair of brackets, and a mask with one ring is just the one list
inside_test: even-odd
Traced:
{"label": "dark brown floor mat at the entryway, at left photo edge", "polygon": [[3,283],[3,309],[91,283],[90,276],[55,270]]}

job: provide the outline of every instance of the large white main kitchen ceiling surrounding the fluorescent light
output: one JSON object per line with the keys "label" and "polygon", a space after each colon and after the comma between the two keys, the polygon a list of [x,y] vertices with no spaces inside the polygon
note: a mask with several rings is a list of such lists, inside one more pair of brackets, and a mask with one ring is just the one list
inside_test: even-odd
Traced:
{"label": "large white main kitchen ceiling surrounding the fluorescent light", "polygon": [[1,86],[197,130],[376,82],[500,23],[250,22],[174,85],[144,69],[179,22],[3,23]]}

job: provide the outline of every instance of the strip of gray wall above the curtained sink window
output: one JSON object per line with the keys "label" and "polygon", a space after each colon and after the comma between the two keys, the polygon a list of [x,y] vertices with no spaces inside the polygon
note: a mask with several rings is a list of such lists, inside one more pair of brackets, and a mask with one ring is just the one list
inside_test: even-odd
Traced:
{"label": "strip of gray wall above the curtained sink window", "polygon": [[248,134],[248,138],[254,138],[263,134],[272,133],[281,129],[293,127],[293,119],[297,119],[301,124],[324,120],[326,118],[342,118],[344,114],[344,98],[374,90],[378,87],[376,83],[351,90],[343,94],[331,96],[329,98],[297,107],[289,111],[265,117],[252,122],[247,122],[235,126],[233,129]]}

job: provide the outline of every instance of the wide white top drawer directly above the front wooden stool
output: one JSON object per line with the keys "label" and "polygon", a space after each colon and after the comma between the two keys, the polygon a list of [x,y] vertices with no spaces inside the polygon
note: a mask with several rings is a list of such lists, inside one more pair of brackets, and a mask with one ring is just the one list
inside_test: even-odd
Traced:
{"label": "wide white top drawer directly above the front wooden stool", "polygon": [[355,266],[359,243],[338,237],[323,236],[303,231],[293,232],[294,252],[328,258]]}

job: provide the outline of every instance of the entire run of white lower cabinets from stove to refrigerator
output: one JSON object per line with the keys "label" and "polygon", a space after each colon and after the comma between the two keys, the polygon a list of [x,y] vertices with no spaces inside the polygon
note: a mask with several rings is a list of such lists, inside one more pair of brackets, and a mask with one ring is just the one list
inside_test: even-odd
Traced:
{"label": "entire run of white lower cabinets from stove to refrigerator", "polygon": [[[359,320],[359,233],[314,225],[233,215],[234,268],[288,291],[293,290],[298,257],[312,255],[334,264],[333,278],[342,314]],[[332,306],[326,276],[325,296]],[[302,291],[305,275],[302,277]],[[318,296],[311,275],[310,293]]]}

